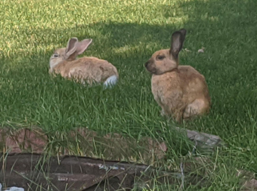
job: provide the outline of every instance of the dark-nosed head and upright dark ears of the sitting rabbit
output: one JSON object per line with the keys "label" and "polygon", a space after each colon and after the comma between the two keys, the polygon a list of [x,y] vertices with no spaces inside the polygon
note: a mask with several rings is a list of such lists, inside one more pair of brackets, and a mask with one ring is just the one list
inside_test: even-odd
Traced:
{"label": "dark-nosed head and upright dark ears of the sitting rabbit", "polygon": [[186,29],[182,28],[172,34],[170,49],[154,52],[152,57],[144,64],[146,69],[156,75],[163,74],[178,67],[178,54],[182,49],[186,36]]}

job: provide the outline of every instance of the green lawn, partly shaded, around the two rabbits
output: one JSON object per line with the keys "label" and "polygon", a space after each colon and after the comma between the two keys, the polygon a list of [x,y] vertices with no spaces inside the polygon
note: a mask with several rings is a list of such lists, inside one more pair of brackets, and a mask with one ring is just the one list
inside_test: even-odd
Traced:
{"label": "green lawn, partly shaded, around the two rabbits", "polygon": [[[235,169],[257,172],[256,1],[3,0],[0,10],[1,126],[36,125],[49,136],[75,127],[138,140],[147,135],[166,141],[163,166],[179,165],[192,149],[171,129],[184,126],[228,144],[208,154],[216,169],[211,186],[201,190],[238,190]],[[144,63],[168,48],[172,32],[182,27],[188,31],[184,48],[192,52],[181,51],[180,63],[206,77],[212,108],[207,116],[176,124],[160,116]],[[117,86],[103,90],[49,76],[50,55],[72,36],[93,38],[83,56],[113,63]],[[198,53],[202,46],[205,52]]]}

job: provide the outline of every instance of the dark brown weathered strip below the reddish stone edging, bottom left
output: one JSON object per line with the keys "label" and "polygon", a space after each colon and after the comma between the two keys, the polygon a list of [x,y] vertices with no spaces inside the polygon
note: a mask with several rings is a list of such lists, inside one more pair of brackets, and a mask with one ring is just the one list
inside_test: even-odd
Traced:
{"label": "dark brown weathered strip below the reddish stone edging, bottom left", "polygon": [[0,182],[5,187],[17,186],[25,190],[88,191],[99,186],[108,190],[132,188],[134,176],[148,168],[147,165],[77,156],[46,159],[46,155],[28,153],[0,155]]}

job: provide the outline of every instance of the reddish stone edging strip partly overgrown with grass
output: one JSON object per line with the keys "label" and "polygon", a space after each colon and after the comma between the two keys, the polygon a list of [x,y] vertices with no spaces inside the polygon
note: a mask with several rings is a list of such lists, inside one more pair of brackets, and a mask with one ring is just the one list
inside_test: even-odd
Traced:
{"label": "reddish stone edging strip partly overgrown with grass", "polygon": [[[0,130],[0,146],[7,153],[47,152],[54,155],[81,155],[143,163],[162,159],[167,151],[164,142],[149,137],[142,137],[137,141],[120,134],[99,136],[95,131],[86,128],[71,130],[69,134],[57,132],[50,140],[39,128],[3,128]],[[95,153],[101,153],[101,156]]]}

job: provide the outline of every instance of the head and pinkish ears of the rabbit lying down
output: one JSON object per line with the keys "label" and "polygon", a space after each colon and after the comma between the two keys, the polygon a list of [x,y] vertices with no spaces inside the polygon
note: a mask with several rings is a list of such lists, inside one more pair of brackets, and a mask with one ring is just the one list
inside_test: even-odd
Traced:
{"label": "head and pinkish ears of the rabbit lying down", "polygon": [[75,60],[79,54],[82,54],[87,49],[92,41],[91,38],[84,39],[81,42],[79,42],[77,37],[70,38],[66,48],[56,49],[50,57],[50,71],[53,71],[53,68],[64,60]]}

